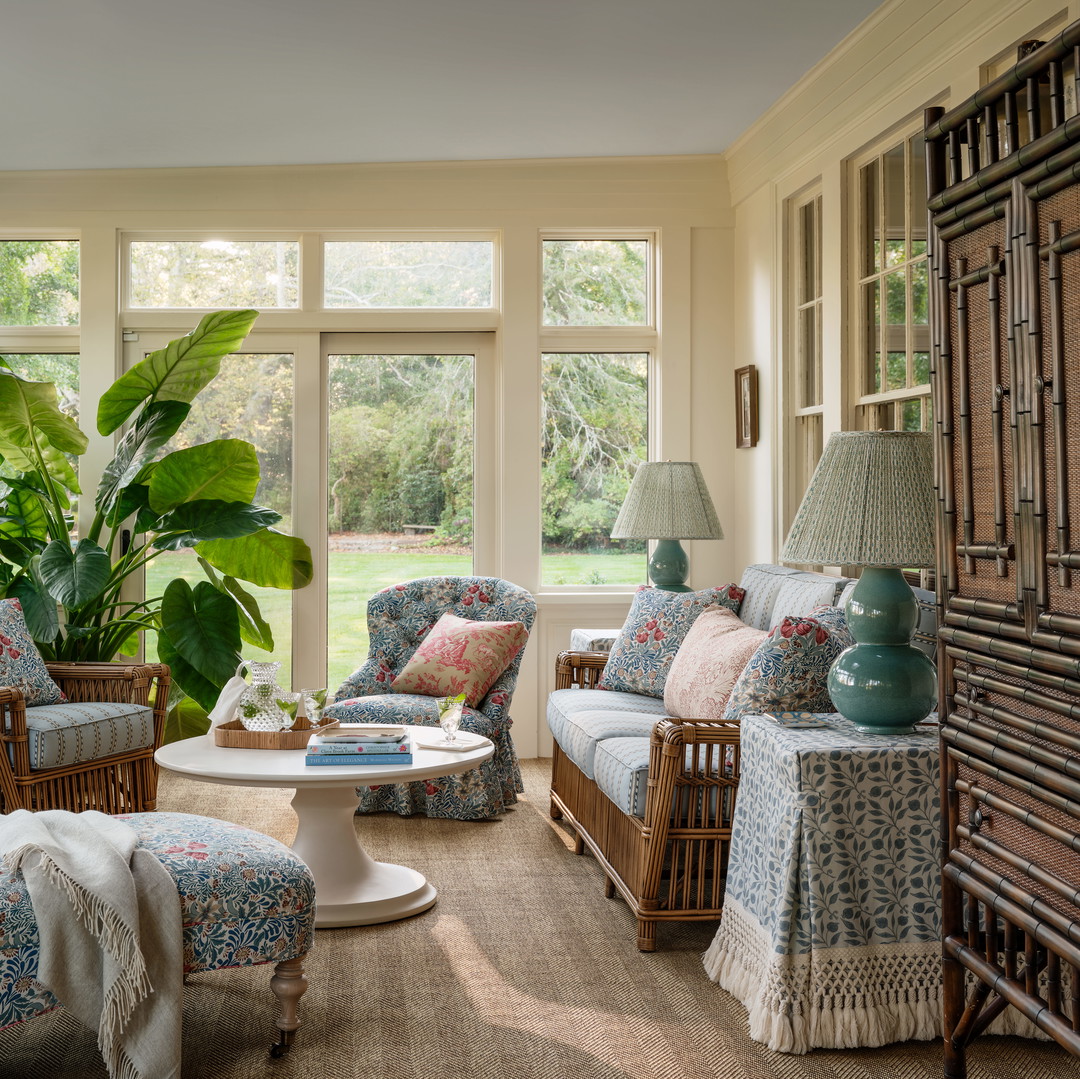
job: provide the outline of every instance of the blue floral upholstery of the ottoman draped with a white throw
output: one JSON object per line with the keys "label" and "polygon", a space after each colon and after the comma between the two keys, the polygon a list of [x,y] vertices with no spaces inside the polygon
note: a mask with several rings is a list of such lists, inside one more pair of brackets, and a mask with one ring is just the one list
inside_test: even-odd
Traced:
{"label": "blue floral upholstery of the ottoman draped with a white throw", "polygon": [[[315,888],[287,847],[237,824],[188,813],[130,813],[176,880],[188,973],[297,959],[311,949]],[[38,926],[19,873],[0,871],[0,1028],[55,1008],[35,979]]]}

